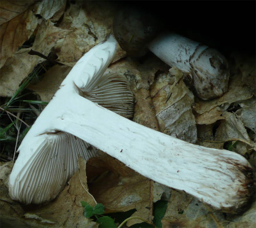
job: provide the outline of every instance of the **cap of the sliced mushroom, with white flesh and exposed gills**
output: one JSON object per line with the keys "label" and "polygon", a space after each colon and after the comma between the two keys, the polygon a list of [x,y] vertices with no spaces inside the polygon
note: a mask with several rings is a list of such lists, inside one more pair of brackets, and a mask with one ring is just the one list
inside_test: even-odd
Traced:
{"label": "cap of the sliced mushroom, with white flesh and exposed gills", "polygon": [[[27,204],[54,199],[76,172],[78,155],[86,160],[96,156],[95,147],[69,134],[68,130],[62,131],[64,126],[72,125],[72,120],[60,129],[55,126],[56,121],[65,116],[72,119],[76,109],[84,111],[86,104],[79,103],[80,98],[132,117],[133,94],[126,78],[115,72],[105,72],[115,53],[116,40],[110,37],[108,42],[84,55],[62,82],[19,147],[19,157],[9,179],[13,199]],[[90,108],[84,114],[87,112],[91,112]]]}

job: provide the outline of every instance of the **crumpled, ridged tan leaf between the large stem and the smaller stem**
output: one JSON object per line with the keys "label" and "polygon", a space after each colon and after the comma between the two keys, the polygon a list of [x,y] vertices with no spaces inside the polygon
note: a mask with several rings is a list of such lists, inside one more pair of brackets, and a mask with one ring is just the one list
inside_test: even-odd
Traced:
{"label": "crumpled, ridged tan leaf between the large stem and the smaller stem", "polygon": [[160,130],[167,135],[195,143],[196,121],[191,109],[194,96],[184,84],[183,73],[178,68],[173,67],[170,73],[171,75],[159,74],[150,88]]}

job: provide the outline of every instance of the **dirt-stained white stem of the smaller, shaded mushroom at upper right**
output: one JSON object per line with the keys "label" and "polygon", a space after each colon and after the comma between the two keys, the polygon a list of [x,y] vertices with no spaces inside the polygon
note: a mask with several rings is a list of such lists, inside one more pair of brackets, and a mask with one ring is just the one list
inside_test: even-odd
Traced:
{"label": "dirt-stained white stem of the smaller, shaded mushroom at upper right", "polygon": [[209,48],[176,33],[163,33],[148,48],[169,66],[191,75],[198,96],[220,97],[228,90],[229,69],[226,58]]}

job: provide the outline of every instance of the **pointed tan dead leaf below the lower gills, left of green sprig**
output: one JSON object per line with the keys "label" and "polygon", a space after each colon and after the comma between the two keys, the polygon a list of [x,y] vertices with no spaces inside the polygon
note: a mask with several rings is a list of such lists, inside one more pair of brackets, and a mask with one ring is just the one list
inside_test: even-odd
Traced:
{"label": "pointed tan dead leaf below the lower gills, left of green sprig", "polygon": [[31,210],[30,213],[52,222],[59,222],[64,227],[98,227],[97,223],[83,215],[81,201],[96,205],[95,199],[88,192],[85,164],[84,159],[78,158],[78,170],[58,198]]}

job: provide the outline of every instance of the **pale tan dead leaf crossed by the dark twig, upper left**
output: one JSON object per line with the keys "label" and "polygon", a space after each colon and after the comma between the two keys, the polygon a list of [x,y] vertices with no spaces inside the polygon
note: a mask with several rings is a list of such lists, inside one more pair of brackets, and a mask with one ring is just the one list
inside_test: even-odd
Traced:
{"label": "pale tan dead leaf crossed by the dark twig, upper left", "polygon": [[29,55],[30,49],[48,55],[56,41],[67,33],[67,30],[55,27],[50,20],[43,21],[37,31],[33,47],[20,49],[12,58],[7,59],[1,68],[1,96],[11,97],[19,88],[21,81],[32,72],[35,65],[44,61],[37,55]]}

